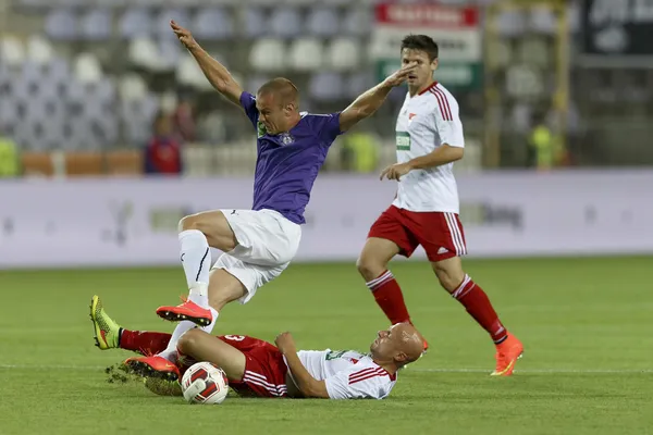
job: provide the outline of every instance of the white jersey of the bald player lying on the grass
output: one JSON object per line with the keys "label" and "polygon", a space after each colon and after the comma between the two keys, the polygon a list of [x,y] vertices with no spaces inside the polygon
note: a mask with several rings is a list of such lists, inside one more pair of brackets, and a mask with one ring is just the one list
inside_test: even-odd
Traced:
{"label": "white jersey of the bald player lying on the grass", "polygon": [[325,382],[331,399],[383,399],[396,383],[396,375],[355,350],[300,350],[297,356],[311,376]]}

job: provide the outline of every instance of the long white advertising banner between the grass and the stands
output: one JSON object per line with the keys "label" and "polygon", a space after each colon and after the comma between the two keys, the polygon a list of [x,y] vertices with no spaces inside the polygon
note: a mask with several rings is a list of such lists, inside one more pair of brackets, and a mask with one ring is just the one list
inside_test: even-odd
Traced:
{"label": "long white advertising banner between the grass and the stands", "polygon": [[[0,269],[174,265],[178,220],[248,209],[251,187],[247,178],[1,182]],[[374,175],[320,175],[296,261],[354,261],[395,188]],[[653,252],[653,171],[479,173],[459,175],[458,188],[470,257]]]}

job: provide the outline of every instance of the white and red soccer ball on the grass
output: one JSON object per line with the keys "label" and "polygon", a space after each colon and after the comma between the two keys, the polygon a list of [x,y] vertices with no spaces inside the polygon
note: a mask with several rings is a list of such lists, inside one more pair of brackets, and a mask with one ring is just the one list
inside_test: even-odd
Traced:
{"label": "white and red soccer ball on the grass", "polygon": [[219,405],[226,398],[229,381],[219,366],[198,362],[184,373],[182,391],[189,403]]}

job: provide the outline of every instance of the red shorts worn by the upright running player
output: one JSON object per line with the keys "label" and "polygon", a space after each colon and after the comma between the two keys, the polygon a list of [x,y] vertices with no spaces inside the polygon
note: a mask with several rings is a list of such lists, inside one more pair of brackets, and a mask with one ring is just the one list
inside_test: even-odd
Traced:
{"label": "red shorts worn by the upright running player", "polygon": [[456,213],[416,212],[390,206],[372,224],[368,237],[394,241],[405,257],[421,245],[433,262],[467,253],[465,232]]}

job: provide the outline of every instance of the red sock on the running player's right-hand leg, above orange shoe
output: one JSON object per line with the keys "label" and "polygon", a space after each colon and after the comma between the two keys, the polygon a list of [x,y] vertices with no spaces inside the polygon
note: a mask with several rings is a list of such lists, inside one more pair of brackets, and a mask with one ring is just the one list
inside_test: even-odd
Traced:
{"label": "red sock on the running player's right-hand leg, above orange shoe", "polygon": [[476,284],[468,275],[465,275],[463,283],[452,294],[458,302],[463,303],[463,307],[467,310],[478,323],[488,331],[492,340],[495,344],[500,344],[505,340],[508,336],[508,332],[498,320],[498,315],[485,291]]}

